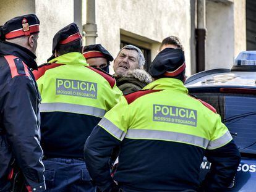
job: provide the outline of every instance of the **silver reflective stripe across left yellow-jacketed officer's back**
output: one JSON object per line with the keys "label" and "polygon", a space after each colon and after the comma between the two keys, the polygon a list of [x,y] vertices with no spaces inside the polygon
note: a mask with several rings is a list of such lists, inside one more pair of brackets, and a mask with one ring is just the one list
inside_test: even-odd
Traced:
{"label": "silver reflective stripe across left yellow-jacketed officer's back", "polygon": [[75,114],[93,115],[103,117],[106,113],[104,109],[79,104],[69,104],[64,102],[41,103],[40,112],[70,112]]}

